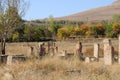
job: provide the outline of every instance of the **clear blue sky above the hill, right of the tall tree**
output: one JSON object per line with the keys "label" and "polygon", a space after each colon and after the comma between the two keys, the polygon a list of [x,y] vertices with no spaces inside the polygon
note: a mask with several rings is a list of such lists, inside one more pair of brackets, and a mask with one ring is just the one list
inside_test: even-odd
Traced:
{"label": "clear blue sky above the hill, right of the tall tree", "polygon": [[106,6],[115,0],[29,0],[30,6],[23,17],[25,20],[35,20],[62,17],[86,11],[92,8]]}

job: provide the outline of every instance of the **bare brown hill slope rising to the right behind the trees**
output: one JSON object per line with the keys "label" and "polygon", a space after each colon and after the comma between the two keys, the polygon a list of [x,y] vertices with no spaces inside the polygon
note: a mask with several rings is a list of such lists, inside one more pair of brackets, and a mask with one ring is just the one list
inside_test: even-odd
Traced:
{"label": "bare brown hill slope rising to the right behind the trees", "polygon": [[101,21],[110,20],[114,15],[120,14],[120,0],[115,1],[111,5],[95,8],[85,12],[73,14],[57,18],[57,20],[70,20],[70,21]]}

